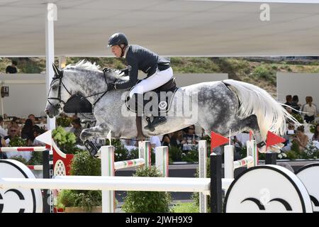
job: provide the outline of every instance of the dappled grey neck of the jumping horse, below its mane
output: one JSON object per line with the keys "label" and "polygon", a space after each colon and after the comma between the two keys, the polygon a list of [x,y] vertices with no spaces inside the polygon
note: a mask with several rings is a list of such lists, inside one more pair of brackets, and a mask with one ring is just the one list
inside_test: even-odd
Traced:
{"label": "dappled grey neck of the jumping horse, below its mane", "polygon": [[72,75],[67,78],[67,81],[70,84],[72,94],[82,94],[91,104],[94,104],[103,92],[107,90],[103,74],[92,73],[91,76],[85,74]]}

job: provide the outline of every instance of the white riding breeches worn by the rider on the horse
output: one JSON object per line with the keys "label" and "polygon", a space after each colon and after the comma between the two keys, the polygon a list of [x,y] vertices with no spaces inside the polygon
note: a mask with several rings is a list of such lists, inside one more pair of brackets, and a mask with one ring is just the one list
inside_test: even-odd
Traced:
{"label": "white riding breeches worn by the rider on the horse", "polygon": [[163,84],[169,82],[169,79],[172,79],[172,77],[172,67],[163,71],[157,70],[155,74],[152,74],[152,76],[147,77],[146,79],[142,79],[140,83],[133,87],[130,91],[130,98],[132,98],[133,94],[143,94],[145,92],[150,92],[157,87],[161,87]]}

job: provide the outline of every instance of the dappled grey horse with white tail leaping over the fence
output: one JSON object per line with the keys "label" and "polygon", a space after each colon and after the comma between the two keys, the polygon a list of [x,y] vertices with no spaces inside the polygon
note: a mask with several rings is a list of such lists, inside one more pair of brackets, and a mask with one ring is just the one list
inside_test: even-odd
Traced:
{"label": "dappled grey horse with white tail leaping over the fence", "polygon": [[[96,118],[95,127],[82,131],[80,137],[83,141],[106,138],[110,130],[112,138],[137,137],[136,114],[125,108],[123,99],[123,92],[128,90],[106,91],[106,83],[128,79],[121,71],[110,70],[104,77],[99,66],[84,61],[68,65],[62,71],[54,68],[55,78],[45,109],[50,118],[60,114],[63,105],[73,94],[82,94],[93,104]],[[230,129],[231,135],[252,130],[259,144],[259,152],[265,152],[267,131],[282,135],[286,131],[286,118],[296,122],[264,89],[245,82],[232,79],[203,82],[181,87],[177,94],[171,109],[178,109],[177,106],[189,102],[192,116],[172,116],[174,113],[168,112],[167,123],[157,126],[153,132],[144,129],[147,121],[142,117],[142,133],[145,136],[172,133],[193,124],[204,128],[208,135],[211,131],[228,136]],[[191,101],[184,101],[186,98]]]}

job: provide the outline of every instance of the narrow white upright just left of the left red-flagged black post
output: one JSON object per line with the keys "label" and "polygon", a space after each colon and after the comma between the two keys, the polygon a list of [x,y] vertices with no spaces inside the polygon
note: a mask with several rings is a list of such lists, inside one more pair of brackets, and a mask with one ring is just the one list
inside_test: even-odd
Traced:
{"label": "narrow white upright just left of the left red-flagged black post", "polygon": [[[207,178],[207,140],[198,141],[198,172],[199,178]],[[199,212],[208,212],[208,197],[199,193]]]}

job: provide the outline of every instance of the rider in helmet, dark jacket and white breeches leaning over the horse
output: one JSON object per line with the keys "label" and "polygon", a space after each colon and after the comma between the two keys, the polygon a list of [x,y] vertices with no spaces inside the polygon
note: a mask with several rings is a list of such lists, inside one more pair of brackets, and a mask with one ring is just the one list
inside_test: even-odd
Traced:
{"label": "rider in helmet, dark jacket and white breeches leaning over the horse", "polygon": [[[108,91],[112,89],[128,89],[133,87],[138,81],[138,70],[147,74],[145,79],[133,87],[130,91],[130,98],[152,91],[157,87],[169,82],[173,77],[173,70],[167,58],[160,57],[155,52],[147,50],[140,45],[128,45],[128,38],[123,33],[115,33],[108,40],[108,47],[111,47],[113,55],[124,57],[128,68],[123,70],[128,74],[129,80],[108,84]],[[165,123],[164,116],[153,116],[151,124],[145,129],[154,128],[159,124]]]}

